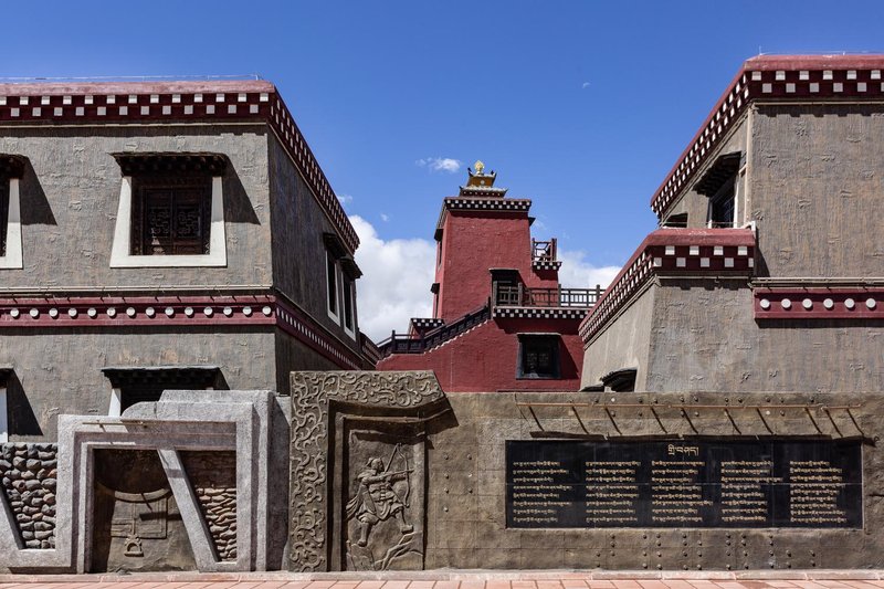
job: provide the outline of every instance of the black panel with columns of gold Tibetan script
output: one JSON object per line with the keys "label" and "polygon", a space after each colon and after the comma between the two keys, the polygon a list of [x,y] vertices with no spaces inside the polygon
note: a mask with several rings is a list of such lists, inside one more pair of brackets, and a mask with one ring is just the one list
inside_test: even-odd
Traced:
{"label": "black panel with columns of gold Tibetan script", "polygon": [[506,443],[508,527],[861,527],[860,444]]}

